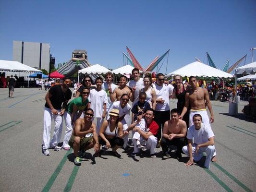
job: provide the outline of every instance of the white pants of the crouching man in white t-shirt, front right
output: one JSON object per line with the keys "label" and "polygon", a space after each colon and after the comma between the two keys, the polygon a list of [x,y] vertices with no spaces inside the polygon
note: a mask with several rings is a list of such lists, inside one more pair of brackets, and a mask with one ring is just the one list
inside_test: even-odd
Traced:
{"label": "white pants of the crouching man in white t-shirt, front right", "polygon": [[[197,154],[195,153],[196,146],[197,144],[192,144],[192,154],[193,154],[194,161],[199,161],[203,156],[203,152],[206,152],[205,167],[209,168],[211,158],[213,156],[216,156],[215,146],[209,145],[207,147],[200,147]],[[189,156],[188,145],[183,146],[182,150],[184,154]]]}

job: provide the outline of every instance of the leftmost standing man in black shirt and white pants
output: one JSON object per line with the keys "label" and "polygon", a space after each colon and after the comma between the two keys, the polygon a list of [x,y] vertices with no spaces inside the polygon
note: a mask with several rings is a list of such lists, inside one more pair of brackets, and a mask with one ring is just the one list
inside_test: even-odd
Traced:
{"label": "leftmost standing man in black shirt and white pants", "polygon": [[[65,112],[65,107],[68,100],[71,99],[72,92],[68,88],[71,84],[69,77],[64,77],[62,84],[54,85],[49,89],[45,96],[46,104],[44,109],[44,132],[43,132],[43,153],[46,156],[50,155],[49,148],[55,151],[60,151],[58,146],[62,132],[62,115]],[[63,104],[62,104],[63,103]],[[61,107],[62,104],[62,107]],[[54,131],[50,141],[51,122],[54,120]]]}

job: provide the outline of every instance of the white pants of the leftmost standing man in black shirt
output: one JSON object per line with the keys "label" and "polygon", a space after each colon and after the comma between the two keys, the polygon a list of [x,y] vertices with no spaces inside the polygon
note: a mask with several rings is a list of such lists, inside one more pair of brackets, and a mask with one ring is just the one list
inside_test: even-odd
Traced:
{"label": "white pants of the leftmost standing man in black shirt", "polygon": [[[61,109],[58,110],[61,112]],[[54,131],[50,141],[51,121],[54,120]],[[62,117],[60,115],[53,115],[50,108],[44,109],[44,132],[43,132],[43,149],[57,146],[61,140],[62,132]]]}

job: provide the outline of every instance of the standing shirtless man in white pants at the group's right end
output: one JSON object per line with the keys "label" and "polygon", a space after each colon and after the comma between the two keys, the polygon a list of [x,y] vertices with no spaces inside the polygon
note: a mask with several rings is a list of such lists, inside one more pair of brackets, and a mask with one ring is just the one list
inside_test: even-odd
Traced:
{"label": "standing shirtless man in white pants at the group's right end", "polygon": [[[214,116],[213,110],[211,106],[211,102],[209,99],[209,95],[207,89],[201,88],[197,86],[197,79],[194,76],[189,78],[190,81],[190,91],[185,95],[185,105],[180,115],[180,119],[183,118],[184,114],[187,112],[187,108],[190,104],[191,109],[189,112],[189,127],[192,126],[193,116],[195,114],[200,114],[202,116],[202,122],[205,123],[208,127],[211,128],[210,123],[213,123]],[[205,103],[206,102],[206,103]],[[210,111],[210,120],[207,115],[206,105]]]}

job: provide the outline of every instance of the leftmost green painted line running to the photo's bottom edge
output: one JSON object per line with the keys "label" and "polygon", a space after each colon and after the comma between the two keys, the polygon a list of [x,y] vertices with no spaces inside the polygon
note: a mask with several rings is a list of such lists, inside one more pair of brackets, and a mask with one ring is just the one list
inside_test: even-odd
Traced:
{"label": "leftmost green painted line running to the photo's bottom edge", "polygon": [[58,177],[59,173],[61,172],[61,169],[63,168],[64,164],[67,161],[67,156],[69,154],[71,154],[73,152],[73,150],[69,150],[67,151],[67,153],[64,155],[64,157],[62,158],[60,164],[58,165],[58,167],[55,169],[55,171],[53,172],[53,174],[51,175],[50,179],[48,180],[48,182],[46,183],[44,189],[42,190],[42,192],[49,192],[50,188],[52,187],[54,181],[56,180],[56,178]]}

